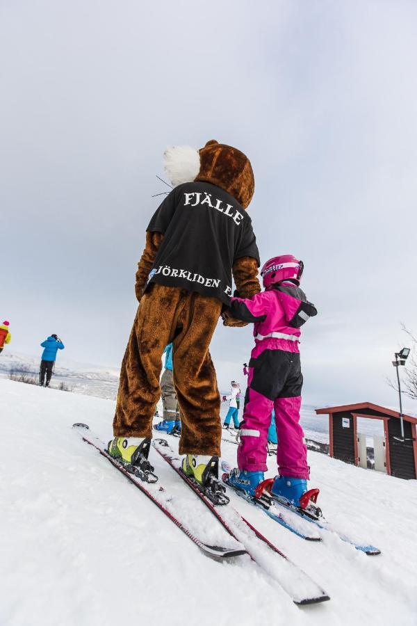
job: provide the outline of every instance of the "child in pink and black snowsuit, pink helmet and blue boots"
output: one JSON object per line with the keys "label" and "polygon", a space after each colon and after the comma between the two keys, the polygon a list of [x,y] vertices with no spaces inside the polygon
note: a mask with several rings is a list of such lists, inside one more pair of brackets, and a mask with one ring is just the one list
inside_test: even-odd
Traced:
{"label": "child in pink and black snowsuit, pink helmet and blue boots", "polygon": [[279,476],[270,486],[272,497],[304,508],[309,466],[304,433],[299,424],[302,373],[300,326],[317,314],[300,289],[303,264],[293,255],[270,259],[261,269],[265,291],[252,298],[232,298],[231,313],[254,323],[255,347],[249,363],[243,422],[240,424],[238,468],[223,479],[254,496],[263,482],[272,408],[278,436]]}

